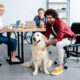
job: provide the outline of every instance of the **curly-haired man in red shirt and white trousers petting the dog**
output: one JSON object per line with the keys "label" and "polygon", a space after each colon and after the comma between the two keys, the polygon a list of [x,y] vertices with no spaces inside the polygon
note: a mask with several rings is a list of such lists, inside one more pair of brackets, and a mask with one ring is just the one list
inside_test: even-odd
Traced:
{"label": "curly-haired man in red shirt and white trousers petting the dog", "polygon": [[[45,50],[48,45],[56,44],[58,66],[51,72],[51,74],[59,75],[63,72],[63,47],[71,43],[71,40],[75,34],[70,30],[70,28],[68,28],[65,22],[58,18],[58,14],[55,10],[48,9],[45,12],[45,16],[47,18],[45,36],[49,39],[50,34],[52,34],[55,39],[47,42],[46,45],[43,47],[43,50]],[[75,43],[75,41],[76,40],[74,39],[72,43]]]}

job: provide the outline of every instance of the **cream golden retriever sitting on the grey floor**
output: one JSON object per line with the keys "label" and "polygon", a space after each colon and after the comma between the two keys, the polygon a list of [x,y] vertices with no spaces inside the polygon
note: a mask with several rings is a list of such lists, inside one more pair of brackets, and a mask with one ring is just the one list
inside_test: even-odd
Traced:
{"label": "cream golden retriever sitting on the grey floor", "polygon": [[22,66],[34,67],[33,75],[37,75],[38,69],[40,71],[44,70],[45,74],[49,74],[47,69],[52,65],[52,61],[49,59],[47,48],[42,50],[46,41],[46,37],[40,32],[34,33],[32,37],[32,59],[23,63]]}

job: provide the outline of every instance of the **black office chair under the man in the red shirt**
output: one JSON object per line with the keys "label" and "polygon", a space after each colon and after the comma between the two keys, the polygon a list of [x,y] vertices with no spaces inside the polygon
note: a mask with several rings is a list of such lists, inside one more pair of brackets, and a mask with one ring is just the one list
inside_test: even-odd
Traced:
{"label": "black office chair under the man in the red shirt", "polygon": [[79,63],[80,62],[80,52],[79,52],[79,47],[80,47],[80,23],[73,23],[71,26],[71,30],[75,33],[76,37],[76,43],[75,44],[70,44],[68,46],[64,47],[65,53],[66,53],[66,57],[64,58],[64,68],[68,68],[68,66],[66,65],[68,58],[70,56],[74,56],[76,57],[76,62]]}

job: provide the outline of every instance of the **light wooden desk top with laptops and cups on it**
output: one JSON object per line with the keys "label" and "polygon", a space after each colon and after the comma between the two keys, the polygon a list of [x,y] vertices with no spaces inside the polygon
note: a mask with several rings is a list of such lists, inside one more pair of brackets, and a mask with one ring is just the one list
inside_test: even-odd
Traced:
{"label": "light wooden desk top with laptops and cups on it", "polygon": [[6,29],[5,32],[36,32],[36,31],[45,31],[45,28],[33,28],[33,29]]}

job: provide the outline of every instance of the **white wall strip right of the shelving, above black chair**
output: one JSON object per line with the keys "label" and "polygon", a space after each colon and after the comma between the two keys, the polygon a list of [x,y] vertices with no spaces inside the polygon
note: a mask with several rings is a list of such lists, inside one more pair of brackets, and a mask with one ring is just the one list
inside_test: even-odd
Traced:
{"label": "white wall strip right of the shelving, above black chair", "polygon": [[80,0],[70,0],[70,24],[80,22]]}

